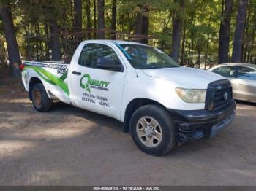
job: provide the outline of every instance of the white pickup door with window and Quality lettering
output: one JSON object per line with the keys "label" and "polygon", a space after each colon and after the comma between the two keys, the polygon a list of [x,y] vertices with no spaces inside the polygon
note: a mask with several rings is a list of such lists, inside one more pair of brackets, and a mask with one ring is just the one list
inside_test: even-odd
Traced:
{"label": "white pickup door with window and Quality lettering", "polygon": [[[99,61],[101,66],[115,63],[120,69],[99,68]],[[72,64],[69,83],[73,104],[119,120],[126,73],[116,50],[106,44],[87,43],[78,63]]]}

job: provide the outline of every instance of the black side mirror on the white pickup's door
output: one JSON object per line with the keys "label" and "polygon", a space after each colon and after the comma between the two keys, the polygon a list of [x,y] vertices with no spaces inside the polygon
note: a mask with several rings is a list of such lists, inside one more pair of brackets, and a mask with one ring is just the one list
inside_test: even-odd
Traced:
{"label": "black side mirror on the white pickup's door", "polygon": [[113,71],[122,71],[123,70],[121,63],[114,61],[111,58],[98,58],[97,59],[97,68],[109,69],[109,70],[113,70]]}

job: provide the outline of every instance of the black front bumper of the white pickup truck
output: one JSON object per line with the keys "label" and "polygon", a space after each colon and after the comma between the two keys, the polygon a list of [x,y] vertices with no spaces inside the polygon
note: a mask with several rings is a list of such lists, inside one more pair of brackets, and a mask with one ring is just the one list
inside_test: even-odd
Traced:
{"label": "black front bumper of the white pickup truck", "polygon": [[236,114],[236,102],[230,101],[225,108],[216,112],[206,109],[168,110],[176,126],[178,144],[183,144],[192,139],[210,139],[230,125]]}

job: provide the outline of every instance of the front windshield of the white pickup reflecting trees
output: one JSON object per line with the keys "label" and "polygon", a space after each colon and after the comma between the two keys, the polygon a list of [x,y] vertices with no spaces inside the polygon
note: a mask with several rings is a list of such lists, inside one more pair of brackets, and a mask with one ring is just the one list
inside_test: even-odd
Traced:
{"label": "front windshield of the white pickup reflecting trees", "polygon": [[168,55],[154,47],[136,44],[117,44],[135,69],[179,67]]}

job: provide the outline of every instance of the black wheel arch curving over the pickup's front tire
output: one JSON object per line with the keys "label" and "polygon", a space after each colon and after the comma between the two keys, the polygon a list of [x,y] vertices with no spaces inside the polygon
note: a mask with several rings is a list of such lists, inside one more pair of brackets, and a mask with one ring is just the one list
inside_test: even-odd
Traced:
{"label": "black wheel arch curving over the pickup's front tire", "polygon": [[129,104],[127,105],[127,107],[125,109],[125,113],[124,113],[124,132],[129,131],[129,121],[132,117],[132,114],[137,109],[139,109],[141,106],[146,106],[146,105],[149,105],[149,104],[161,106],[162,108],[166,109],[166,107],[164,105],[160,104],[157,101],[148,99],[148,98],[135,98],[135,99],[133,99],[132,101],[129,102]]}

